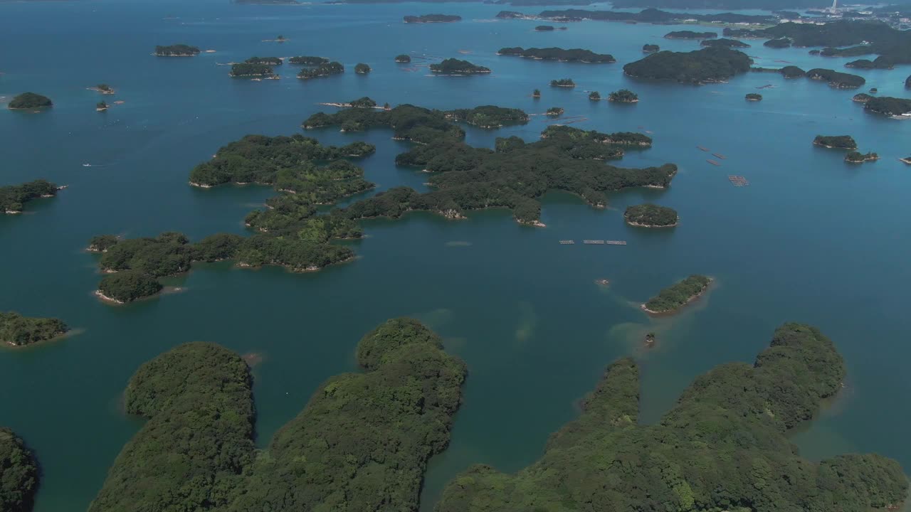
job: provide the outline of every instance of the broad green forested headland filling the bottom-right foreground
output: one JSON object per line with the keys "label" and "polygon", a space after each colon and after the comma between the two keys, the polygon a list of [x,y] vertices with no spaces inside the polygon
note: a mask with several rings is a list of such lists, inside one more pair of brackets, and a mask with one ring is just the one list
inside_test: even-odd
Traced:
{"label": "broad green forested headland filling the bottom-right foreground", "polygon": [[878,455],[802,458],[787,435],[842,388],[845,366],[814,327],[785,323],[755,363],[703,374],[659,421],[640,423],[640,370],[610,364],[577,419],[515,474],[478,465],[437,512],[897,510],[908,481]]}

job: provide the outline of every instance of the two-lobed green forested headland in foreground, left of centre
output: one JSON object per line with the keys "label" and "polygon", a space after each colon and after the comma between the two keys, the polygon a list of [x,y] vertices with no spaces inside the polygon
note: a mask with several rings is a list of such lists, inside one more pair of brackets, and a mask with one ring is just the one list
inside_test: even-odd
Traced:
{"label": "two-lobed green forested headland in foreground, left of centre", "polygon": [[330,377],[257,450],[239,354],[188,343],[159,355],[125,393],[127,412],[148,422],[88,512],[416,510],[427,460],[448,445],[466,365],[404,318],[366,334],[357,362],[362,372]]}

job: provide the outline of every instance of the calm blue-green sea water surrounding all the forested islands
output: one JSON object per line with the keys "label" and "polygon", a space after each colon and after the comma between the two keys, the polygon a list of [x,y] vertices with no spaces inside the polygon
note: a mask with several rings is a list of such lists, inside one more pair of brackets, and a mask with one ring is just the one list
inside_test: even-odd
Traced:
{"label": "calm blue-green sea water surrounding all the forested islands", "polygon": [[[536,22],[496,21],[495,5],[242,6],[91,0],[0,4],[0,96],[26,90],[50,96],[42,114],[0,110],[0,183],[39,177],[69,185],[25,215],[0,218],[0,310],[56,316],[80,333],[60,343],[0,351],[0,425],[36,449],[44,470],[37,512],[87,506],[108,466],[141,422],[121,412],[122,391],[139,364],[179,343],[206,340],[240,353],[260,353],[255,394],[259,444],[306,404],[330,375],[355,369],[363,333],[389,317],[412,315],[445,336],[470,376],[452,445],[431,464],[424,507],[445,482],[474,463],[515,471],[540,455],[548,434],[577,414],[578,398],[602,368],[632,354],[643,367],[643,418],[656,421],[693,376],[715,364],[752,361],[776,325],[813,323],[844,353],[850,376],[823,418],[795,438],[818,458],[876,451],[911,466],[905,425],[911,406],[906,362],[911,330],[906,289],[911,270],[911,169],[897,161],[911,147],[911,123],[865,115],[839,91],[809,80],[748,74],[730,84],[689,87],[623,77],[645,43],[674,50],[697,43],[661,36],[680,27],[597,22],[537,33]],[[537,12],[526,8],[526,12]],[[402,15],[458,14],[451,25],[406,26]],[[164,19],[166,16],[177,19]],[[284,44],[262,42],[277,35]],[[188,43],[216,53],[156,58],[153,46]],[[536,62],[497,57],[501,46],[583,47],[611,53],[614,65]],[[433,57],[472,52],[486,77],[426,77],[394,64],[400,53]],[[756,65],[840,69],[848,59],[808,56],[805,49],[749,48]],[[348,67],[365,62],[366,77],[302,82],[230,79],[218,63],[249,56],[319,55]],[[903,96],[909,67],[860,71],[867,87]],[[575,90],[552,90],[572,77]],[[96,113],[106,82],[122,105]],[[761,103],[743,100],[759,91]],[[529,97],[541,88],[544,97]],[[591,103],[629,87],[638,105]],[[599,130],[650,130],[654,148],[620,165],[675,162],[670,189],[631,190],[592,210],[576,197],[548,195],[546,229],[518,226],[507,211],[465,221],[415,214],[365,222],[353,243],[360,258],[325,271],[239,271],[199,265],[171,280],[186,292],[128,307],[91,295],[99,276],[87,239],[181,230],[199,238],[243,232],[247,211],[271,196],[266,188],[193,189],[189,169],[221,145],[248,133],[292,134],[323,108],[318,102],[370,96],[432,108],[483,104],[531,113],[566,108]],[[331,109],[331,108],[327,108]],[[468,129],[468,141],[492,146],[497,136],[534,139],[544,128]],[[875,163],[852,166],[843,153],[814,148],[817,134],[851,134]],[[423,187],[425,176],[394,167],[407,148],[375,130],[309,135],[325,143],[368,140],[363,161],[379,189]],[[727,156],[722,167],[696,146]],[[91,163],[92,167],[83,167]],[[750,186],[734,188],[727,175]],[[635,230],[622,210],[644,200],[679,210],[674,230]],[[617,246],[560,246],[561,239],[619,239]],[[661,287],[693,273],[716,278],[708,297],[670,319],[636,309]],[[607,278],[609,288],[596,279]],[[655,331],[655,349],[641,346]]]}

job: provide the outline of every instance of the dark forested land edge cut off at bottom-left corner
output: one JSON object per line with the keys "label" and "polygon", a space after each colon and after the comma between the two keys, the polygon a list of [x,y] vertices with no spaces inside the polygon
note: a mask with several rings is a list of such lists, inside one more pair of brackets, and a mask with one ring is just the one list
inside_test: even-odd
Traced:
{"label": "dark forested land edge cut off at bottom-left corner", "polygon": [[0,427],[0,510],[31,512],[39,477],[32,450],[15,432]]}

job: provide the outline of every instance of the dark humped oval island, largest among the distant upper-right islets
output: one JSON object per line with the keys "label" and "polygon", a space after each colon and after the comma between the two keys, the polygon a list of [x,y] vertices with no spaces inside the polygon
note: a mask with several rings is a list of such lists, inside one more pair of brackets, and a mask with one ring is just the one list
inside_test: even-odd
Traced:
{"label": "dark humped oval island, largest among the distant upper-right islets", "polygon": [[750,70],[752,59],[730,48],[702,48],[691,52],[663,51],[623,67],[630,77],[674,80],[691,84],[720,82]]}

